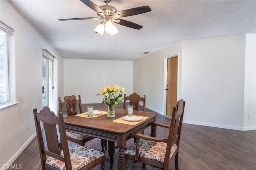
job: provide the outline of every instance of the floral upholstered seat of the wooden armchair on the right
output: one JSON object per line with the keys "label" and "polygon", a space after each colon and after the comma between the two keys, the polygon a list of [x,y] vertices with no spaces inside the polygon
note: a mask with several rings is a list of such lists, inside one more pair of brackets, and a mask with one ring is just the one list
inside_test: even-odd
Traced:
{"label": "floral upholstered seat of the wooden armchair on the right", "polygon": [[[140,149],[139,149],[140,157],[164,162],[167,143],[140,139],[139,146],[140,146]],[[175,152],[177,148],[178,147],[176,144],[172,146],[172,149],[170,152],[170,158],[172,157],[172,154]],[[136,143],[132,145],[130,148],[126,149],[125,154],[135,155]]]}

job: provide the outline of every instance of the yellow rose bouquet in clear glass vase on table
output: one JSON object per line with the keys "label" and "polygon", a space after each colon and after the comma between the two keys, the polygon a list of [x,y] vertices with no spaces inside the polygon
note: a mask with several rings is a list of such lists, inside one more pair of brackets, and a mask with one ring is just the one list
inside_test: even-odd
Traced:
{"label": "yellow rose bouquet in clear glass vase on table", "polygon": [[114,85],[113,87],[106,86],[105,88],[102,88],[102,94],[97,94],[100,96],[104,96],[102,100],[102,105],[104,103],[108,106],[108,117],[115,117],[115,106],[118,107],[118,103],[122,102],[123,96],[122,94],[119,94],[116,96],[116,92],[120,89],[120,93],[123,93],[125,88],[119,87],[117,85]]}

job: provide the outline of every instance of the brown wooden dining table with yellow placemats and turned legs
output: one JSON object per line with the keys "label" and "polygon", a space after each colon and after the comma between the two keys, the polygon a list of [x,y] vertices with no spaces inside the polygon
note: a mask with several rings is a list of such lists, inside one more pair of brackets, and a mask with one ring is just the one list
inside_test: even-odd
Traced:
{"label": "brown wooden dining table with yellow placemats and turned legs", "polygon": [[[107,107],[97,109],[100,111],[107,111]],[[133,111],[133,115],[148,117],[140,121],[136,125],[128,125],[123,123],[116,123],[113,120],[124,117],[127,115],[126,109],[115,108],[115,117],[107,117],[107,114],[94,117],[80,117],[76,115],[64,117],[65,128],[67,131],[88,135],[100,139],[108,140],[108,153],[110,155],[110,168],[114,164],[115,142],[118,147],[118,160],[117,169],[126,170],[126,160],[124,157],[124,147],[132,134],[141,133],[144,129],[150,126],[151,123],[156,121],[157,113],[146,111]],[[81,113],[84,114],[84,113]],[[151,128],[151,136],[156,136],[155,127]]]}

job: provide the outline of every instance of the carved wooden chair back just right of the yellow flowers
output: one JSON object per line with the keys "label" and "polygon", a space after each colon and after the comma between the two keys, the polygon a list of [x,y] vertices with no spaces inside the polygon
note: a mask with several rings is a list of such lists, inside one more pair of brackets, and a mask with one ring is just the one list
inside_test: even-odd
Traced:
{"label": "carved wooden chair back just right of the yellow flowers", "polygon": [[129,100],[130,103],[129,105],[133,106],[133,110],[139,110],[139,102],[143,102],[143,107],[142,107],[142,111],[145,111],[146,108],[146,96],[144,95],[144,98],[140,97],[140,95],[138,95],[137,93],[133,93],[130,96],[126,96],[126,94],[124,94],[124,109],[126,108],[126,101]]}

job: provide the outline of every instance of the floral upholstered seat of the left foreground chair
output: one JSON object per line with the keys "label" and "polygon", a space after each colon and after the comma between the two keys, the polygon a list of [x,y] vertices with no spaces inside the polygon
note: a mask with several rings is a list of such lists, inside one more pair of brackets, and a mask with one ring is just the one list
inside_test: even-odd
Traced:
{"label": "floral upholstered seat of the left foreground chair", "polygon": [[[81,145],[70,146],[69,153],[72,170],[79,170],[80,168],[105,155],[99,150],[86,148]],[[63,155],[63,150],[61,150],[60,154]],[[45,163],[50,166],[54,166],[59,170],[66,170],[65,163],[58,159],[48,157]]]}

